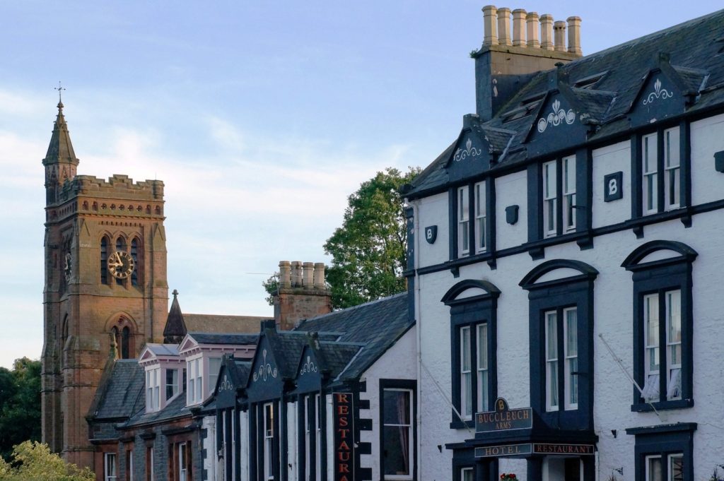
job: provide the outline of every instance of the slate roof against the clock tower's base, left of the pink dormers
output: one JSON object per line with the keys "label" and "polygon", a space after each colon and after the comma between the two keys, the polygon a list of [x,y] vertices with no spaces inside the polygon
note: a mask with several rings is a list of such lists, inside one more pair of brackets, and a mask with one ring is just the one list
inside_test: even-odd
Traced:
{"label": "slate roof against the clock tower's base, left of the pink dormers", "polygon": [[96,391],[95,420],[127,418],[145,408],[143,367],[136,359],[117,359]]}

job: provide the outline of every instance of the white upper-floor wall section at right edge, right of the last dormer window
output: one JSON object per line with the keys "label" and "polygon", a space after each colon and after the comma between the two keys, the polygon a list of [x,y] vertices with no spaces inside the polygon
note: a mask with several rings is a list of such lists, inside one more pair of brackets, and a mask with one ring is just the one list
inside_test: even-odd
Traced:
{"label": "white upper-floor wall section at right edge, right of the last dormer window", "polygon": [[724,150],[724,114],[691,122],[691,203],[724,198],[724,174],[714,169],[714,153]]}

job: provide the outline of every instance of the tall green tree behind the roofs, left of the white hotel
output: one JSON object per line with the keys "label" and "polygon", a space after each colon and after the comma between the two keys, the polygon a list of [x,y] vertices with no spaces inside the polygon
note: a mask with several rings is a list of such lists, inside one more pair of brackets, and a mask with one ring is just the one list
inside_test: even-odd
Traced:
{"label": "tall green tree behind the roofs, left of the white hotel", "polygon": [[420,169],[386,169],[350,195],[342,226],[324,244],[332,255],[327,283],[332,305],[351,307],[405,290],[405,207],[400,187]]}

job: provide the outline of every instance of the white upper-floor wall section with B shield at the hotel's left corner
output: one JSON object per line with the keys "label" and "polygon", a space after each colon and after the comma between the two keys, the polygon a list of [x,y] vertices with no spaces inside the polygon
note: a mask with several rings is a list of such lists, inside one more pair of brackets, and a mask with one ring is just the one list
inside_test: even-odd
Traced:
{"label": "white upper-floor wall section with B shield at the hotel's left corner", "polygon": [[[437,195],[431,195],[421,200],[423,208],[418,210],[418,225],[420,226],[420,236],[418,245],[420,252],[418,267],[426,265],[435,265],[444,263],[450,258],[450,222],[447,219],[447,192]],[[437,239],[434,244],[429,244],[425,240],[425,228],[429,226],[437,226]]]}

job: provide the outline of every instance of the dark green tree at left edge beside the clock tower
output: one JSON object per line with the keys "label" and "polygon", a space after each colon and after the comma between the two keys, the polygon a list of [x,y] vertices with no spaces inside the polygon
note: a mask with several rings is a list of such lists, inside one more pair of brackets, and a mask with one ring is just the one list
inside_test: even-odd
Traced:
{"label": "dark green tree at left edge beside the clock tower", "polygon": [[0,367],[0,458],[23,440],[41,438],[41,362],[15,359],[12,371]]}

